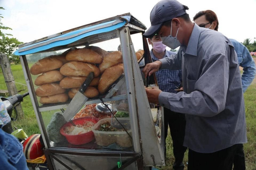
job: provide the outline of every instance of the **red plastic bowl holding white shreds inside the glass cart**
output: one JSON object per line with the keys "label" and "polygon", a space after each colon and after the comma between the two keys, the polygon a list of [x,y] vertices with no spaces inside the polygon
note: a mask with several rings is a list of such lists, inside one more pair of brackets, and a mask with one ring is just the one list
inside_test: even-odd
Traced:
{"label": "red plastic bowl holding white shreds inside the glass cart", "polygon": [[[77,118],[77,119],[72,120],[72,122],[75,125],[78,125],[78,124],[83,125],[86,121],[97,123],[99,121],[99,119],[97,119],[95,117],[83,117],[83,118]],[[68,143],[71,143],[73,145],[82,145],[85,143],[89,143],[94,139],[93,131],[89,131],[87,133],[83,133],[83,134],[79,134],[79,135],[68,135],[64,132],[65,127],[68,127],[68,126],[73,126],[73,125],[70,122],[67,122],[60,129],[61,135],[66,137]]]}

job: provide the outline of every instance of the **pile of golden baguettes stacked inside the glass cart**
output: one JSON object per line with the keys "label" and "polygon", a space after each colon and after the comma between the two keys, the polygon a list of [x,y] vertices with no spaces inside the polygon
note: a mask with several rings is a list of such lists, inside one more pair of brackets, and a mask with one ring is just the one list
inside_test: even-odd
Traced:
{"label": "pile of golden baguettes stacked inside the glass cart", "polygon": [[[139,60],[143,50],[136,52]],[[104,94],[124,72],[120,51],[107,52],[96,46],[70,48],[61,55],[52,55],[38,60],[30,73],[39,75],[34,84],[39,86],[35,94],[42,104],[67,102],[73,98],[86,76],[94,72],[94,79],[84,95],[94,98]]]}

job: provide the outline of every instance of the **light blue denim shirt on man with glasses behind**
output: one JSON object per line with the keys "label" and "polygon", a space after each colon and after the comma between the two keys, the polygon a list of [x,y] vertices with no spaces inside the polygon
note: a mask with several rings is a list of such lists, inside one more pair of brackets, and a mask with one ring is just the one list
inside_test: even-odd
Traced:
{"label": "light blue denim shirt on man with glasses behind", "polygon": [[242,43],[234,39],[230,39],[230,41],[232,42],[237,53],[238,64],[239,66],[243,67],[244,70],[242,74],[242,87],[243,92],[245,92],[255,77],[255,62],[248,49]]}

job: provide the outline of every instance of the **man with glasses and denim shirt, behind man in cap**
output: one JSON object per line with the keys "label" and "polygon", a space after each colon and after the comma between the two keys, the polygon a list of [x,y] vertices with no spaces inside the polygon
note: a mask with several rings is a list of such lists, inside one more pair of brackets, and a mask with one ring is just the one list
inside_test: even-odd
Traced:
{"label": "man with glasses and denim shirt, behind man in cap", "polygon": [[[199,27],[209,28],[218,31],[218,17],[216,13],[211,10],[198,12],[193,17],[193,21],[195,21],[195,23],[199,25]],[[255,77],[255,62],[248,49],[242,43],[234,39],[230,39],[230,41],[232,42],[237,53],[238,64],[243,68],[244,71],[242,73],[242,88],[243,92],[245,92]]]}

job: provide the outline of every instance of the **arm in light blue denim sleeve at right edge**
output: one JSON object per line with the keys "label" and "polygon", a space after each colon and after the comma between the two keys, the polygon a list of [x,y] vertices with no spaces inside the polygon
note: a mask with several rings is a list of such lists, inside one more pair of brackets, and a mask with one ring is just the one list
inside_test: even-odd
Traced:
{"label": "arm in light blue denim sleeve at right edge", "polygon": [[245,46],[242,52],[242,62],[240,63],[240,66],[243,67],[244,71],[242,74],[242,88],[243,92],[245,92],[248,86],[252,83],[256,74],[255,62]]}

